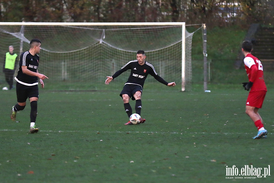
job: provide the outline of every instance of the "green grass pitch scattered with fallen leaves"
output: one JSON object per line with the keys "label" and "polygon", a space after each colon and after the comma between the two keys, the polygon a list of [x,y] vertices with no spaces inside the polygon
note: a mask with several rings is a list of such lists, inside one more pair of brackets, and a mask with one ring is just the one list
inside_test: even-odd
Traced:
{"label": "green grass pitch scattered with fallen leaves", "polygon": [[[274,182],[274,86],[268,86],[260,109],[269,135],[258,140],[252,139],[257,131],[244,112],[248,92],[241,85],[209,85],[210,93],[202,87],[180,92],[178,85],[146,83],[146,123],[126,126],[121,83],[91,84],[90,91],[46,84],[40,89],[37,134],[28,134],[30,104],[13,122],[15,90],[0,91],[0,183]],[[270,176],[226,176],[233,165],[239,173],[245,165],[262,168],[260,175],[270,165]]]}

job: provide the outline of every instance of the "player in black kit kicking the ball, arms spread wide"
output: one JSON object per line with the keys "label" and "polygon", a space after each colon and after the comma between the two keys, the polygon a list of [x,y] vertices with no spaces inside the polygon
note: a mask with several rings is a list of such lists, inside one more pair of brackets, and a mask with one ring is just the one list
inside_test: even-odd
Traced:
{"label": "player in black kit kicking the ball, arms spread wide", "polygon": [[[109,84],[114,78],[118,77],[120,74],[122,74],[126,70],[129,70],[129,69],[131,70],[130,76],[128,77],[128,81],[125,83],[124,88],[120,93],[120,96],[122,97],[124,101],[124,107],[125,107],[126,113],[128,114],[128,117],[132,115],[132,108],[129,104],[130,98],[132,98],[132,100],[136,100],[135,111],[137,114],[141,115],[142,89],[148,74],[152,75],[157,81],[167,86],[176,85],[175,82],[168,83],[162,77],[157,75],[153,65],[145,61],[146,55],[143,50],[139,50],[136,56],[137,56],[137,60],[132,60],[128,62],[121,68],[121,70],[118,70],[112,76],[107,76],[107,79],[105,81],[105,84]],[[140,123],[144,123],[145,121],[146,119],[141,118]],[[130,121],[125,123],[125,125],[130,125],[130,124],[132,124]]]}

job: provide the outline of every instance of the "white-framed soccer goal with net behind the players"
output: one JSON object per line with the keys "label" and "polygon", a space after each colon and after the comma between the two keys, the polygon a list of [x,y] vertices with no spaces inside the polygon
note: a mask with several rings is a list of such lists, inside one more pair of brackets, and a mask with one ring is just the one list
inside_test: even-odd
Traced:
{"label": "white-framed soccer goal with net behind the players", "polygon": [[[0,22],[0,55],[13,45],[19,55],[29,42],[39,39],[39,72],[47,82],[104,82],[144,50],[146,61],[166,81],[191,84],[193,33],[185,23],[32,23]],[[18,67],[17,67],[18,68]],[[128,74],[116,81],[125,82]],[[157,82],[148,77],[146,82]]]}

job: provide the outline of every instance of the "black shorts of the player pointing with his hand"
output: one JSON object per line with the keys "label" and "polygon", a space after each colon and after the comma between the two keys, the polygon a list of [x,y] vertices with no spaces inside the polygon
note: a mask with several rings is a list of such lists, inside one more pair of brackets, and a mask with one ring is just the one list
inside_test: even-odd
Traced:
{"label": "black shorts of the player pointing with his hand", "polygon": [[33,86],[26,86],[16,82],[17,102],[26,102],[27,98],[39,97],[38,84]]}

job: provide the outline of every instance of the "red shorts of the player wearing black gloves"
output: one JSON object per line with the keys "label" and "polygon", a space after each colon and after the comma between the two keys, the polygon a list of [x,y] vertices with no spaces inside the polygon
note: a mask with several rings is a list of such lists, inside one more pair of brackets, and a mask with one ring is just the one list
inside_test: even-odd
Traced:
{"label": "red shorts of the player wearing black gloves", "polygon": [[262,103],[264,102],[266,91],[252,91],[248,94],[248,99],[246,100],[246,106],[262,108]]}

